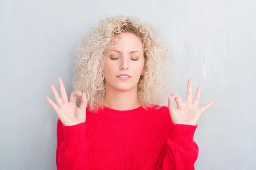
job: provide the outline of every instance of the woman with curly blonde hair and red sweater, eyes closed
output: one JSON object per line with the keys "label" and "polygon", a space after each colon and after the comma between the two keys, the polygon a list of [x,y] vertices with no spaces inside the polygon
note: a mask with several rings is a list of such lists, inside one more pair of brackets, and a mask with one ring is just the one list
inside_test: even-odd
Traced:
{"label": "woman with curly blonde hair and red sweater, eyes closed", "polygon": [[59,118],[57,169],[194,170],[197,122],[215,101],[198,108],[201,87],[192,101],[189,79],[185,102],[172,94],[168,107],[158,105],[166,63],[157,30],[137,18],[110,17],[92,28],[77,50],[70,99],[61,78],[61,96],[51,85],[56,104],[46,96]]}

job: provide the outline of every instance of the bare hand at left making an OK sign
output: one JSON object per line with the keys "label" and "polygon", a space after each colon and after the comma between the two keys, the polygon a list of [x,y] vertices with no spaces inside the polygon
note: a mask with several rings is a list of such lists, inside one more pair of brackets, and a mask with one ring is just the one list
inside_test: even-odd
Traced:
{"label": "bare hand at left making an OK sign", "polygon": [[[52,106],[53,110],[57,113],[58,118],[61,120],[64,126],[77,125],[79,123],[85,122],[87,98],[85,93],[80,91],[72,91],[70,94],[70,101],[68,101],[67,93],[64,87],[64,83],[61,78],[58,78],[59,88],[61,97],[58,95],[54,85],[51,85],[52,93],[55,98],[55,102],[46,96],[45,99]],[[76,97],[81,96],[81,105],[78,108],[76,106]]]}

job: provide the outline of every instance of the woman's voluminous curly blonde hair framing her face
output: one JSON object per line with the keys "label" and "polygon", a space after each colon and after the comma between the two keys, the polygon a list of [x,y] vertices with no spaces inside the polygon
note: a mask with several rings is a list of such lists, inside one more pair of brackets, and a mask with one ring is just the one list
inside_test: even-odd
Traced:
{"label": "woman's voluminous curly blonde hair framing her face", "polygon": [[[140,21],[137,17],[108,17],[92,27],[85,40],[76,48],[75,77],[73,88],[85,92],[87,107],[97,111],[103,107],[106,93],[104,69],[104,52],[111,46],[109,42],[116,34],[130,32],[141,38],[144,47],[144,74],[138,82],[138,100],[143,108],[157,105],[166,92],[166,64],[168,50],[160,40],[160,34],[151,24]],[[78,105],[81,97],[78,97]],[[159,107],[160,108],[160,107]]]}

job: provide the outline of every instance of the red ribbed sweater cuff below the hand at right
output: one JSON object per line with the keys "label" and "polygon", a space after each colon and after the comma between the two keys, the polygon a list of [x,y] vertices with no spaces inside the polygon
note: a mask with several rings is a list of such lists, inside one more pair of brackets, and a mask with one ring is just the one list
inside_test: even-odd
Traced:
{"label": "red ribbed sweater cuff below the hand at right", "polygon": [[194,140],[195,130],[198,125],[173,124],[171,139],[175,143],[190,143]]}

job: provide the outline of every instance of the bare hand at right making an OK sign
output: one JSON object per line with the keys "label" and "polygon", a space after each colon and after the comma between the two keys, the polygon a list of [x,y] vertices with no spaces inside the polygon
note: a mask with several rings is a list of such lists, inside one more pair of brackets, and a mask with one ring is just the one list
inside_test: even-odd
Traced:
{"label": "bare hand at right making an OK sign", "polygon": [[[174,124],[197,125],[198,120],[200,119],[202,114],[215,103],[215,100],[212,100],[202,108],[198,108],[200,94],[201,86],[198,86],[195,94],[195,99],[192,102],[192,79],[190,78],[188,81],[186,102],[182,101],[179,94],[172,94],[171,96],[169,96],[169,113]],[[173,99],[175,99],[177,104],[176,109]]]}

